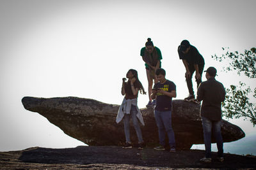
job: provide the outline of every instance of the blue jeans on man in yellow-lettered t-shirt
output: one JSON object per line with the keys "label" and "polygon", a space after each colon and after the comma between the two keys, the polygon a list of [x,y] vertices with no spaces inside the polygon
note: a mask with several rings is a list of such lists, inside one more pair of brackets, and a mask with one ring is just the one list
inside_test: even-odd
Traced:
{"label": "blue jeans on man in yellow-lettered t-shirt", "polygon": [[158,111],[154,110],[156,124],[158,127],[158,136],[160,145],[165,145],[165,132],[169,138],[169,145],[175,148],[175,136],[172,129],[172,111]]}

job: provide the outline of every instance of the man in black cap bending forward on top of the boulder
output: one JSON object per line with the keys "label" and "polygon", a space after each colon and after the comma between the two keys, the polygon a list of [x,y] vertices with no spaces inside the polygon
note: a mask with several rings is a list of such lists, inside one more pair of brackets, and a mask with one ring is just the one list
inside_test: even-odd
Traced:
{"label": "man in black cap bending forward on top of the boulder", "polygon": [[185,68],[186,68],[186,82],[188,85],[189,96],[186,97],[185,101],[193,101],[195,99],[195,94],[193,91],[193,83],[192,83],[192,76],[193,73],[196,71],[196,83],[197,87],[202,82],[202,73],[204,71],[204,58],[195,48],[195,46],[190,45],[188,40],[183,40],[179,47],[178,53],[180,60],[182,60]]}

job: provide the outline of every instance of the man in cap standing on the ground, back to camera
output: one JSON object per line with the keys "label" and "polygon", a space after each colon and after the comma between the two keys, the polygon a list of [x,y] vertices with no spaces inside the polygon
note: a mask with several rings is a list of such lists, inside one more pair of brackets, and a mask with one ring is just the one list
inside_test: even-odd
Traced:
{"label": "man in cap standing on the ground, back to camera", "polygon": [[223,162],[223,140],[221,136],[221,102],[225,100],[225,89],[219,81],[215,80],[217,70],[209,67],[205,73],[207,81],[200,83],[197,90],[196,101],[203,101],[200,108],[202,126],[204,130],[205,157],[202,162],[211,162],[211,131],[213,131],[217,148],[218,160]]}

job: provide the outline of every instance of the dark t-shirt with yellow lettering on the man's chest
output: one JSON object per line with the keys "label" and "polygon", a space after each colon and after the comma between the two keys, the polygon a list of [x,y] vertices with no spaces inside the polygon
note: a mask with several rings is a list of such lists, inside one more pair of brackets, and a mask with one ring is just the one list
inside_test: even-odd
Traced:
{"label": "dark t-shirt with yellow lettering on the man's chest", "polygon": [[[154,89],[162,89],[166,92],[172,92],[176,90],[176,85],[170,81],[166,80],[165,83],[160,82],[154,85]],[[161,93],[156,94],[156,107],[155,110],[158,111],[171,111],[172,110],[172,97],[165,96]]]}

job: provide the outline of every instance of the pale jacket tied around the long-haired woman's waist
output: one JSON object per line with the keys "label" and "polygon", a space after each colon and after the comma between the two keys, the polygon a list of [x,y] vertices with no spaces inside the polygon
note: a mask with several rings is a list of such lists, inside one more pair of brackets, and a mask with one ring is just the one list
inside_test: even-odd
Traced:
{"label": "pale jacket tied around the long-haired woman's waist", "polygon": [[138,119],[140,120],[141,124],[145,125],[144,124],[144,121],[143,121],[143,117],[142,117],[142,114],[140,112],[140,109],[138,108],[138,105],[137,105],[137,98],[136,99],[125,99],[123,100],[119,110],[118,110],[118,113],[117,113],[117,116],[116,116],[116,123],[118,124],[119,122],[121,122],[121,120],[123,119],[124,117],[124,114],[130,114],[131,113],[131,106],[136,106],[137,108],[137,117]]}

